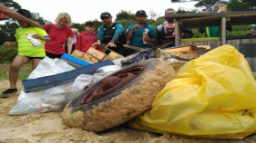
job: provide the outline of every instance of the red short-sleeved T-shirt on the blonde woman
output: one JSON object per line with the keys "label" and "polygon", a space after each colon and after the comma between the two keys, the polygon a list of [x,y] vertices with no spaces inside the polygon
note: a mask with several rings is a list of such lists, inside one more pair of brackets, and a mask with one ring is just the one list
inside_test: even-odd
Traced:
{"label": "red short-sleeved T-shirt on the blonde woman", "polygon": [[45,24],[44,28],[51,38],[50,42],[45,43],[46,52],[54,54],[65,53],[64,43],[67,41],[68,37],[74,36],[72,30],[67,26],[59,29],[55,24]]}

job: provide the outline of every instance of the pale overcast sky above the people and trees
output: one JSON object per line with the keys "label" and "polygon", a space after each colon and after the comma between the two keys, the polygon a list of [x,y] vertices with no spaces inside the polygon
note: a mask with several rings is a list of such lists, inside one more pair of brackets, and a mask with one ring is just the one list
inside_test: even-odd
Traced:
{"label": "pale overcast sky above the people and trees", "polygon": [[145,10],[148,14],[153,11],[163,16],[165,9],[179,7],[192,9],[195,2],[171,3],[170,0],[14,0],[22,8],[30,12],[39,13],[50,22],[54,22],[57,14],[68,13],[73,23],[85,23],[88,20],[100,20],[102,12],[109,12],[116,18],[121,10],[135,14],[138,10]]}

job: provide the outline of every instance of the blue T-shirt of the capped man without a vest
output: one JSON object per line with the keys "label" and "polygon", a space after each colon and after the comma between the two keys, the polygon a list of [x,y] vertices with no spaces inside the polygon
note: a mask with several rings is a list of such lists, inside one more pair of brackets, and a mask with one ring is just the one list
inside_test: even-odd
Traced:
{"label": "blue T-shirt of the capped man without a vest", "polygon": [[[130,32],[130,30],[135,26],[136,24],[132,24],[128,26],[128,30],[127,33]],[[148,31],[148,36],[150,38],[155,39],[156,38],[156,31],[155,28],[152,25],[143,25],[141,28],[139,29],[135,29],[132,33],[131,39],[129,41],[129,45],[133,45],[133,46],[137,46],[143,49],[148,48],[148,43],[144,44],[143,43],[143,33],[145,31]]]}

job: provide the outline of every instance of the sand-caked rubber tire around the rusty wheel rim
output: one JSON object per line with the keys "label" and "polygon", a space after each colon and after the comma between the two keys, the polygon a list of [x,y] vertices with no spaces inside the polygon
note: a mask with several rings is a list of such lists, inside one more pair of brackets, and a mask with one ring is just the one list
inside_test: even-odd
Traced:
{"label": "sand-caked rubber tire around the rusty wheel rim", "polygon": [[71,100],[62,114],[67,126],[99,132],[116,127],[148,110],[159,91],[174,79],[175,71],[168,62],[159,59],[134,63],[123,69],[136,65],[146,66],[138,77],[117,91],[87,104],[80,104],[84,93],[93,88],[92,85]]}

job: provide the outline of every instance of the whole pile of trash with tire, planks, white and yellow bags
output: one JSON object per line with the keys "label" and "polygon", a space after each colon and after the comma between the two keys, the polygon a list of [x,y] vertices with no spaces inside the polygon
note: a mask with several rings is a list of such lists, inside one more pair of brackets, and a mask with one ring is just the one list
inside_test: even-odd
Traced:
{"label": "whole pile of trash with tire, planks, white and yellow bags", "polygon": [[[245,138],[256,129],[255,77],[230,45],[145,49],[115,60],[95,53],[42,60],[9,114],[65,109],[68,126],[94,132],[128,120],[136,129],[203,138]],[[87,54],[97,58],[83,64]]]}

